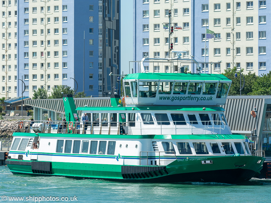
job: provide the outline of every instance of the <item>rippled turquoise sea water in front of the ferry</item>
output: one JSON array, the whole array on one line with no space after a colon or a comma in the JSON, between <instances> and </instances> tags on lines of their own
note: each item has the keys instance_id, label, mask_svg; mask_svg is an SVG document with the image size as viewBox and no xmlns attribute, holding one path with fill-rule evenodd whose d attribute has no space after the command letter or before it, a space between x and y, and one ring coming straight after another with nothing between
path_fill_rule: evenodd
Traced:
<instances>
[{"instance_id":1,"label":"rippled turquoise sea water in front of the ferry","mask_svg":"<svg viewBox=\"0 0 271 203\"><path fill-rule=\"evenodd\" d=\"M23 198L21 200L12 198ZM10 201L11 200L11 201ZM222 183L120 183L56 176L12 174L0 166L0 201L5 202L271 202L271 179Z\"/></svg>"}]
</instances>

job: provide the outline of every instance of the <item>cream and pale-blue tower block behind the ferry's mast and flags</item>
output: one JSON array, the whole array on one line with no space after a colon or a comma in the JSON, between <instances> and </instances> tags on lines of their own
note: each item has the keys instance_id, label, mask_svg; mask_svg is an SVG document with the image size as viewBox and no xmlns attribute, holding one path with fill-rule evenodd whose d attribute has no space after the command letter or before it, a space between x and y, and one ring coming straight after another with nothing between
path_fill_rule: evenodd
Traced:
<instances>
[{"instance_id":1,"label":"cream and pale-blue tower block behind the ferry's mast and flags","mask_svg":"<svg viewBox=\"0 0 271 203\"><path fill-rule=\"evenodd\" d=\"M135 61L141 60L146 53L150 58L168 57L169 30L163 27L168 26L167 14L171 9L170 26L174 30L169 43L173 43L173 51L185 51L182 57L194 57L203 72L221 73L234 66L238 70L244 69L245 73L251 71L257 75L270 70L268 66L266 69L266 64L269 64L266 32L268 34L270 29L266 23L271 17L268 1L142 0L134 1L134 9ZM182 29L175 29L176 26L182 26ZM213 31L215 37L205 42L206 28ZM157 44L159 41L160 44ZM185 66L189 71L196 72L194 64L171 66L160 70L148 68L150 72L177 72L178 67ZM139 70L135 67L135 71Z\"/></svg>"}]
</instances>

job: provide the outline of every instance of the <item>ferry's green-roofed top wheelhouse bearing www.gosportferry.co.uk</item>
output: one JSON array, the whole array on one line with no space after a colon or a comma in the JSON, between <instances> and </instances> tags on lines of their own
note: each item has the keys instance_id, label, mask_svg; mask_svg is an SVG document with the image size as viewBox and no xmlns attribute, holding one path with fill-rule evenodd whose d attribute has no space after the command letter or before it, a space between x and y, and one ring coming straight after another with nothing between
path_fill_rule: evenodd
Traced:
<instances>
[{"instance_id":1,"label":"ferry's green-roofed top wheelhouse bearing www.gosportferry.co.uk","mask_svg":"<svg viewBox=\"0 0 271 203\"><path fill-rule=\"evenodd\" d=\"M223 105L232 81L220 74L134 73L123 78L125 103L135 105Z\"/></svg>"}]
</instances>

